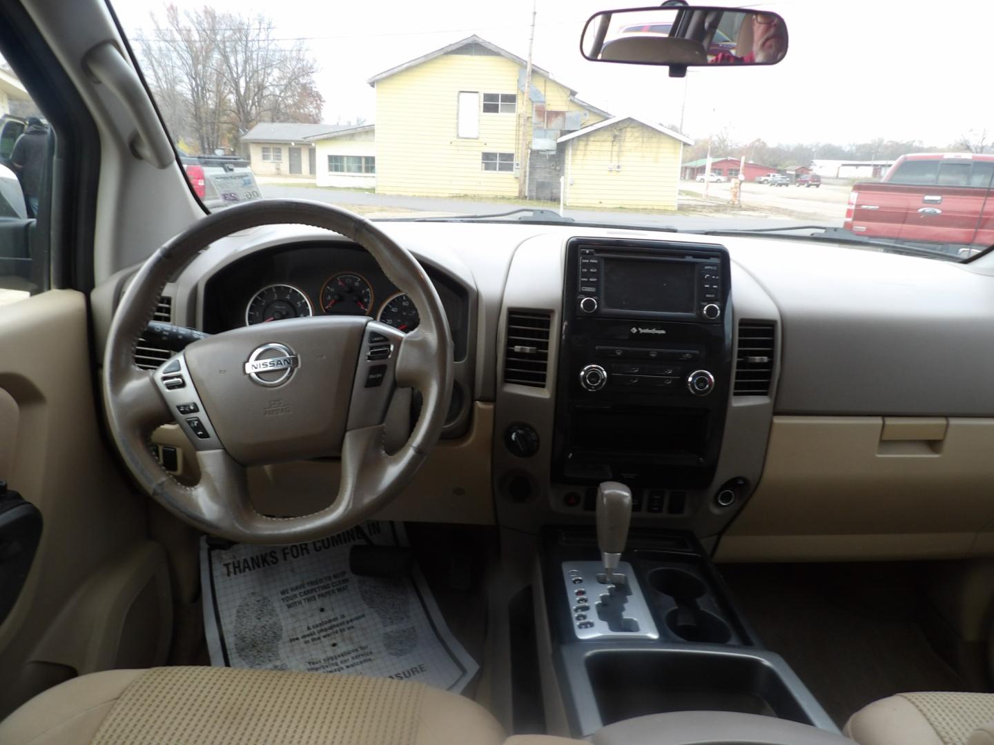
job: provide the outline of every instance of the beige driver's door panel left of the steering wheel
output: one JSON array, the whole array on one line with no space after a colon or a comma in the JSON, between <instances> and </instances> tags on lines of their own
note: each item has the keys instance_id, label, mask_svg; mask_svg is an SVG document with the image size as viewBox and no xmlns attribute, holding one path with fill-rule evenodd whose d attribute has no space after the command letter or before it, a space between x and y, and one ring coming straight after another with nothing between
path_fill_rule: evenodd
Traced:
<instances>
[{"instance_id":1,"label":"beige driver's door panel left of the steering wheel","mask_svg":"<svg viewBox=\"0 0 994 745\"><path fill-rule=\"evenodd\" d=\"M146 498L121 476L97 416L83 294L0 306L0 479L44 519L0 625L0 718L74 674L165 660L164 552L146 537Z\"/></svg>"}]
</instances>

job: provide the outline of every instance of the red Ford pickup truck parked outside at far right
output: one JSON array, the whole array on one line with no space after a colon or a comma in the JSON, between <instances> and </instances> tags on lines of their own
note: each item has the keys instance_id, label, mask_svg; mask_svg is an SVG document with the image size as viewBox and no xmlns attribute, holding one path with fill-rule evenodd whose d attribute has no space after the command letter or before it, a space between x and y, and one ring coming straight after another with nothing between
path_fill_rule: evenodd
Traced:
<instances>
[{"instance_id":1,"label":"red Ford pickup truck parked outside at far right","mask_svg":"<svg viewBox=\"0 0 994 745\"><path fill-rule=\"evenodd\" d=\"M843 227L950 249L994 244L994 155L902 155L880 183L853 186Z\"/></svg>"}]
</instances>

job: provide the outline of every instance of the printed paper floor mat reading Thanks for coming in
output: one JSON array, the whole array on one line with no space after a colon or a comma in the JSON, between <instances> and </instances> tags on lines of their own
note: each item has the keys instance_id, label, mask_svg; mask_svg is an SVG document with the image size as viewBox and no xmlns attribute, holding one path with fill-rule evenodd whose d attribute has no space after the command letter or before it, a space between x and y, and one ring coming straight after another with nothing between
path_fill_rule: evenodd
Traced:
<instances>
[{"instance_id":1,"label":"printed paper floor mat reading Thanks for coming in","mask_svg":"<svg viewBox=\"0 0 994 745\"><path fill-rule=\"evenodd\" d=\"M355 544L404 545L403 525L366 522L321 540L227 549L201 541L211 664L414 679L461 691L477 664L451 635L418 569L349 571Z\"/></svg>"}]
</instances>

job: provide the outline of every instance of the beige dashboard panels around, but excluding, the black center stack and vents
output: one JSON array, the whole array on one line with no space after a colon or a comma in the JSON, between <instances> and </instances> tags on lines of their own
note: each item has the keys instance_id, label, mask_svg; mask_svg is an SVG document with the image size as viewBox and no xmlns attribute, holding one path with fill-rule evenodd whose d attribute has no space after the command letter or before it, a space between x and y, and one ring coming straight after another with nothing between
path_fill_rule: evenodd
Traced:
<instances>
[{"instance_id":1,"label":"beige dashboard panels around, but excluding, the black center stack and vents","mask_svg":"<svg viewBox=\"0 0 994 745\"><path fill-rule=\"evenodd\" d=\"M461 424L383 517L528 532L591 522L568 504L571 486L555 483L550 469L556 375L541 387L504 380L508 314L549 314L555 371L569 238L675 236L536 224L386 227L465 288L472 313L457 376L467 393ZM272 226L219 241L167 286L172 322L201 328L206 281L220 267L315 240L336 236ZM994 369L994 278L811 241L685 233L679 240L720 240L728 248L732 357L741 323L770 324L772 384L768 395L729 396L712 484L692 490L681 515L643 513L636 524L691 529L725 561L994 553L994 376L981 373ZM127 275L94 291L98 344ZM406 403L394 412L395 436L409 424ZM519 421L539 435L533 457L519 458L504 444L507 427ZM196 479L178 433L166 428L155 439L178 449L177 478ZM715 490L736 477L747 491L719 504ZM336 479L334 462L275 464L253 472L253 499L269 514L302 514L335 494Z\"/></svg>"}]
</instances>

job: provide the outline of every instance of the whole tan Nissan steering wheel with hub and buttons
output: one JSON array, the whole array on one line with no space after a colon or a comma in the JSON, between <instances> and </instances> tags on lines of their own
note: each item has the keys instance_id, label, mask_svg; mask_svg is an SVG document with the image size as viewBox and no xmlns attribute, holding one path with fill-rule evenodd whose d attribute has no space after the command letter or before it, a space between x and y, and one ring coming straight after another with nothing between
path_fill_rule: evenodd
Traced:
<instances>
[{"instance_id":1,"label":"whole tan Nissan steering wheel with hub and buttons","mask_svg":"<svg viewBox=\"0 0 994 745\"><path fill-rule=\"evenodd\" d=\"M138 337L166 282L198 251L233 232L303 224L362 245L406 292L420 324L410 334L366 316L318 316L235 329L195 342L154 371L134 365ZM421 393L411 437L384 449L396 386ZM266 200L214 213L145 261L110 324L103 400L114 443L142 488L173 515L213 535L252 543L324 537L366 519L411 481L438 439L452 391L452 343L434 286L414 256L376 225L328 205ZM201 479L184 486L149 448L176 421L196 448ZM294 518L260 515L246 469L340 457L338 495Z\"/></svg>"}]
</instances>

